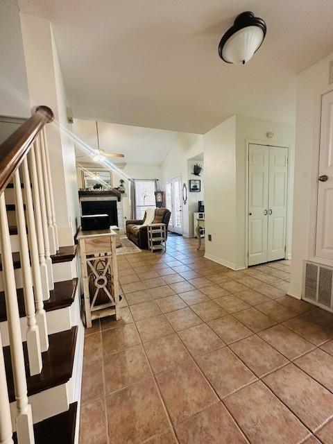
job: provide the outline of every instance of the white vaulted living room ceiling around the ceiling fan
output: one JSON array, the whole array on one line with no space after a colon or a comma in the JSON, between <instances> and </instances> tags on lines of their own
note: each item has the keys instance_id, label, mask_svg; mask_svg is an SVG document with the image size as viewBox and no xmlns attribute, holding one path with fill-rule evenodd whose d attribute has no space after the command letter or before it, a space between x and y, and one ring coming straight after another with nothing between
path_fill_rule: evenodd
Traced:
<instances>
[{"instance_id":1,"label":"white vaulted living room ceiling around the ceiling fan","mask_svg":"<svg viewBox=\"0 0 333 444\"><path fill-rule=\"evenodd\" d=\"M74 119L73 133L90 148L97 148L96 122ZM99 122L99 146L107 153L121 153L125 157L109 157L114 164L162 164L169 149L176 144L178 133L139 126ZM76 144L79 163L92 162L86 152Z\"/></svg>"}]
</instances>

